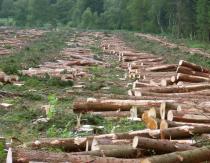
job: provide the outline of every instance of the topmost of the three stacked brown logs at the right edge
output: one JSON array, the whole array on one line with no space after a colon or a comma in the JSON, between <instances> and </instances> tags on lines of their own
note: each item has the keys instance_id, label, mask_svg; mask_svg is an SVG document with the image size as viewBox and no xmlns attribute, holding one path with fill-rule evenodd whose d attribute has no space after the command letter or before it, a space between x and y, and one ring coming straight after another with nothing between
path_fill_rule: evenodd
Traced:
<instances>
[{"instance_id":1,"label":"topmost of the three stacked brown logs at the right edge","mask_svg":"<svg viewBox=\"0 0 210 163\"><path fill-rule=\"evenodd\" d=\"M194 63L190 63L190 62L187 62L184 60L179 61L179 66L185 66L185 67L188 67L188 68L193 69L194 71L198 71L198 72L210 73L209 69L203 68L199 65L196 65Z\"/></svg>"}]
</instances>

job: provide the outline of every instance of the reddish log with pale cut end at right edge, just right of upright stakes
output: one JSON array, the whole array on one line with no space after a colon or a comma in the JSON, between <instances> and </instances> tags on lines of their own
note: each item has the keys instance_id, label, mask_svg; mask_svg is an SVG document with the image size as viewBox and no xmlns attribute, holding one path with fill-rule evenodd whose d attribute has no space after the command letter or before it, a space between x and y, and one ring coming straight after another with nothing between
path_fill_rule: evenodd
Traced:
<instances>
[{"instance_id":1,"label":"reddish log with pale cut end at right edge, just right of upright stakes","mask_svg":"<svg viewBox=\"0 0 210 163\"><path fill-rule=\"evenodd\" d=\"M189 123L210 123L210 115L206 113L186 113L183 111L171 110L168 112L167 120L177 122L189 122Z\"/></svg>"}]
</instances>

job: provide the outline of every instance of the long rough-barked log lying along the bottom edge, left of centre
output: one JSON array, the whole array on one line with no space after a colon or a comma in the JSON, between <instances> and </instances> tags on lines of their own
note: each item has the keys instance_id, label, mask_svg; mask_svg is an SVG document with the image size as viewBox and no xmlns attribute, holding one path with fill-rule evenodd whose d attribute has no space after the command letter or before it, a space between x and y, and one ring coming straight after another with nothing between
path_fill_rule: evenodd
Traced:
<instances>
[{"instance_id":1,"label":"long rough-barked log lying along the bottom edge, left of centre","mask_svg":"<svg viewBox=\"0 0 210 163\"><path fill-rule=\"evenodd\" d=\"M87 155L72 155L69 153L53 153L35 150L13 149L14 163L28 163L29 161L39 162L94 162L94 163L138 163L139 159L117 159L112 157L96 157Z\"/></svg>"}]
</instances>

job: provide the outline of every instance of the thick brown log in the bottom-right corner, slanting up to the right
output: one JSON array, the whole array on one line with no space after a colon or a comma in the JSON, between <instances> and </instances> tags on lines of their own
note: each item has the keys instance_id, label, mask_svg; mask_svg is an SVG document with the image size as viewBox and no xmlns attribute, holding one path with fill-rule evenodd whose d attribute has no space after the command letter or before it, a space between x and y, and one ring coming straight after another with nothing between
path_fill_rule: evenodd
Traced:
<instances>
[{"instance_id":1,"label":"thick brown log in the bottom-right corner, slanting up to the right","mask_svg":"<svg viewBox=\"0 0 210 163\"><path fill-rule=\"evenodd\" d=\"M143 159L141 163L198 163L210 161L210 146Z\"/></svg>"}]
</instances>

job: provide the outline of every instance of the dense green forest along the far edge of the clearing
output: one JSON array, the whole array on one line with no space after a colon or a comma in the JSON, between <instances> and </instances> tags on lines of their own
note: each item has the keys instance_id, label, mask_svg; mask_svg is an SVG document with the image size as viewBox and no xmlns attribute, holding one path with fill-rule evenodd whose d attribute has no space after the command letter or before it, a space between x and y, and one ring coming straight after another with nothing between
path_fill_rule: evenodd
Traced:
<instances>
[{"instance_id":1,"label":"dense green forest along the far edge of the clearing","mask_svg":"<svg viewBox=\"0 0 210 163\"><path fill-rule=\"evenodd\" d=\"M0 17L18 26L167 32L210 40L210 0L0 0Z\"/></svg>"}]
</instances>

